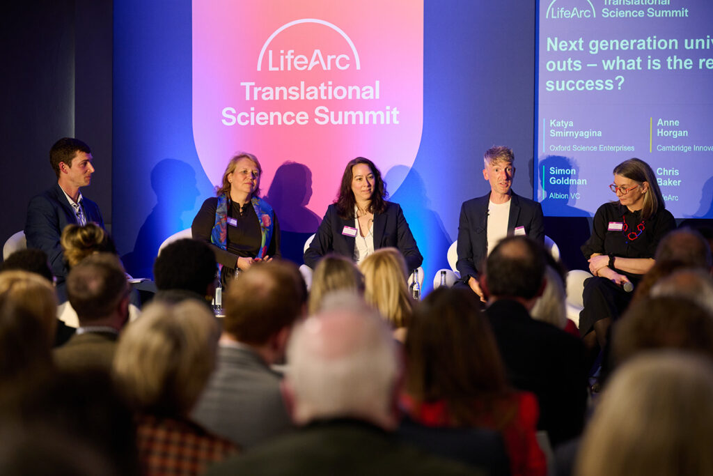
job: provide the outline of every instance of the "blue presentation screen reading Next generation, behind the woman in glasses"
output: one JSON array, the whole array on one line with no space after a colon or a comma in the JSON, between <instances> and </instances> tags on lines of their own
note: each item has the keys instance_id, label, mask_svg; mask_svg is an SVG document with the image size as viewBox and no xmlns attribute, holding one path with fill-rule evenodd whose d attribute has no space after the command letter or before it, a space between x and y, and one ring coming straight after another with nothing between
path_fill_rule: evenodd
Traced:
<instances>
[{"instance_id":1,"label":"blue presentation screen reading Next generation, behind the woman in glasses","mask_svg":"<svg viewBox=\"0 0 713 476\"><path fill-rule=\"evenodd\" d=\"M534 190L593 216L646 161L677 218L713 218L713 1L538 2Z\"/></svg>"}]
</instances>

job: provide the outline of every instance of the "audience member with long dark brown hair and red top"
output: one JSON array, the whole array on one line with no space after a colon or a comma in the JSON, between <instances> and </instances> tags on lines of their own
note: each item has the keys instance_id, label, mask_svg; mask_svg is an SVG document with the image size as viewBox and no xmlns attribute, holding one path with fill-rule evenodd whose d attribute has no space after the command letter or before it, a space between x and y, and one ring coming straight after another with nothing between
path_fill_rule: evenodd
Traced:
<instances>
[{"instance_id":1,"label":"audience member with long dark brown hair and red top","mask_svg":"<svg viewBox=\"0 0 713 476\"><path fill-rule=\"evenodd\" d=\"M428 426L498 430L513 476L545 475L545 455L535 439L537 399L509 387L474 293L438 288L426 296L406 337L406 362L402 403L411 419Z\"/></svg>"}]
</instances>

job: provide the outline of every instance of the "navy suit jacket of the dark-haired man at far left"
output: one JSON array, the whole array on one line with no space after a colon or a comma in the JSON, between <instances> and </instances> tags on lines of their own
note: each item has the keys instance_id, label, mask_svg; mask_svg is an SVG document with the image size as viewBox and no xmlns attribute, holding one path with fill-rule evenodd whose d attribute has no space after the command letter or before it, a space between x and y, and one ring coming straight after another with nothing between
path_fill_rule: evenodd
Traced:
<instances>
[{"instance_id":1,"label":"navy suit jacket of the dark-haired man at far left","mask_svg":"<svg viewBox=\"0 0 713 476\"><path fill-rule=\"evenodd\" d=\"M83 196L81 207L87 222L93 221L104 228L101 211L96 203ZM64 227L70 224L78 224L77 217L58 183L48 191L34 196L27 206L25 221L27 247L39 248L47 253L58 285L64 283L67 275L67 265L64 263L59 238Z\"/></svg>"}]
</instances>

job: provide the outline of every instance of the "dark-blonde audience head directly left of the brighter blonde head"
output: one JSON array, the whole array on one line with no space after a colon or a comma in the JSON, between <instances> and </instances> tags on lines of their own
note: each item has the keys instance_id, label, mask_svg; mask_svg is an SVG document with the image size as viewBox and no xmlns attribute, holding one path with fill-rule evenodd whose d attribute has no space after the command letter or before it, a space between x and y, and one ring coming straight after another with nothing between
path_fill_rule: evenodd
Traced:
<instances>
[{"instance_id":1,"label":"dark-blonde audience head directly left of the brighter blonde head","mask_svg":"<svg viewBox=\"0 0 713 476\"><path fill-rule=\"evenodd\" d=\"M324 296L337 290L353 290L354 293L363 294L364 275L354 261L330 253L319 260L314 268L312 288L309 290L309 314L317 313Z\"/></svg>"}]
</instances>

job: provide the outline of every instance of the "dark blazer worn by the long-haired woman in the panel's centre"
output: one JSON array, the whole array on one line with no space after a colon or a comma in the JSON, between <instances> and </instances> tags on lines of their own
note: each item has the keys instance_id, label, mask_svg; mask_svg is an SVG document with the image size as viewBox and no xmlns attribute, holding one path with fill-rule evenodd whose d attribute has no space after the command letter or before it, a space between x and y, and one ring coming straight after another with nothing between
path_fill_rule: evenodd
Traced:
<instances>
[{"instance_id":1,"label":"dark blazer worn by the long-haired woman in the panel's centre","mask_svg":"<svg viewBox=\"0 0 713 476\"><path fill-rule=\"evenodd\" d=\"M319 258L327 253L337 253L354 259L356 238L342 235L345 226L354 228L354 218L347 220L340 218L337 206L330 205L322 218L322 223L319 224L317 235L304 252L304 264L314 269ZM424 262L401 206L393 202L386 202L384 213L374 214L374 249L389 246L401 251L409 271L418 268Z\"/></svg>"}]
</instances>

